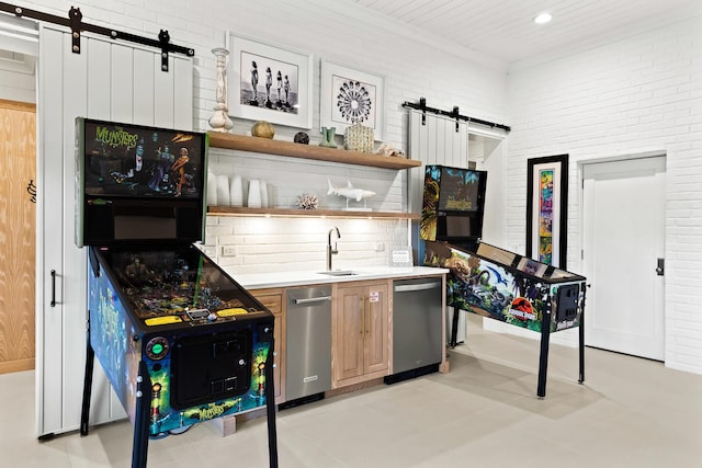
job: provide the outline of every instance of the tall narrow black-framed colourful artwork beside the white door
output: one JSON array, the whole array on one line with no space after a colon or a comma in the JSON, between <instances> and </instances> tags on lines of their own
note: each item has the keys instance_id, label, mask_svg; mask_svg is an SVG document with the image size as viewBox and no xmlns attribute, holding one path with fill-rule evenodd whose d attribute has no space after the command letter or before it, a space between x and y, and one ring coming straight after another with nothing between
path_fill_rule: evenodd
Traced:
<instances>
[{"instance_id":1,"label":"tall narrow black-framed colourful artwork beside the white door","mask_svg":"<svg viewBox=\"0 0 702 468\"><path fill-rule=\"evenodd\" d=\"M568 155L528 160L526 256L566 270Z\"/></svg>"}]
</instances>

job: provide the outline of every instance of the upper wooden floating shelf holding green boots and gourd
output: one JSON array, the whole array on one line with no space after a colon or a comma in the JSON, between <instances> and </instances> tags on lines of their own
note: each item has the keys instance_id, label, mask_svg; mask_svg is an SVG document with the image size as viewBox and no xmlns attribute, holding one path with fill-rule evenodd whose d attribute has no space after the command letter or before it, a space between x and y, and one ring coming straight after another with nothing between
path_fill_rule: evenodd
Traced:
<instances>
[{"instance_id":1,"label":"upper wooden floating shelf holding green boots and gourd","mask_svg":"<svg viewBox=\"0 0 702 468\"><path fill-rule=\"evenodd\" d=\"M239 151L261 152L265 155L287 156L291 158L313 159L317 161L341 162L344 164L369 165L384 169L411 169L421 167L414 159L371 155L317 145L302 145L269 138L211 132L210 146L213 148L235 149Z\"/></svg>"}]
</instances>

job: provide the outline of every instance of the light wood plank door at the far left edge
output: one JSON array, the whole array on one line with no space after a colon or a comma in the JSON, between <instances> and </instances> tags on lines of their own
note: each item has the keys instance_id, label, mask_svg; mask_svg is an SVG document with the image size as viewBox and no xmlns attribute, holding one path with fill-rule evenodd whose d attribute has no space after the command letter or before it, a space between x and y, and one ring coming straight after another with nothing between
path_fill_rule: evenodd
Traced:
<instances>
[{"instance_id":1,"label":"light wood plank door at the far left edge","mask_svg":"<svg viewBox=\"0 0 702 468\"><path fill-rule=\"evenodd\" d=\"M0 374L34 368L36 110L0 100Z\"/></svg>"}]
</instances>

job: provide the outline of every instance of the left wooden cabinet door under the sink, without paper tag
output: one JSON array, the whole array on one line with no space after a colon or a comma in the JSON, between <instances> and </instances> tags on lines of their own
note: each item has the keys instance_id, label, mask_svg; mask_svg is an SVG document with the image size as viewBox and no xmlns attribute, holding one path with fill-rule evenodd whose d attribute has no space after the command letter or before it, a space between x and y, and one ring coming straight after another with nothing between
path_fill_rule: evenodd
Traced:
<instances>
[{"instance_id":1,"label":"left wooden cabinet door under the sink, without paper tag","mask_svg":"<svg viewBox=\"0 0 702 468\"><path fill-rule=\"evenodd\" d=\"M364 374L365 288L343 287L338 289L337 321L335 330L336 380L359 377Z\"/></svg>"}]
</instances>

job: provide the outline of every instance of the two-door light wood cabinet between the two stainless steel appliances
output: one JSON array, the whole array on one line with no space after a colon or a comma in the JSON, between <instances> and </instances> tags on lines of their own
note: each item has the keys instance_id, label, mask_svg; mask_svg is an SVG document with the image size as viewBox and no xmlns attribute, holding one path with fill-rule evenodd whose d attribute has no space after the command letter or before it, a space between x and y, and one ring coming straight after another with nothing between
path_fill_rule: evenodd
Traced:
<instances>
[{"instance_id":1,"label":"two-door light wood cabinet between the two stainless steel appliances","mask_svg":"<svg viewBox=\"0 0 702 468\"><path fill-rule=\"evenodd\" d=\"M339 284L331 316L332 388L359 384L389 372L389 282Z\"/></svg>"}]
</instances>

